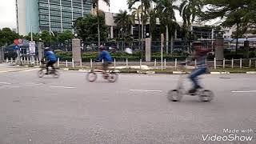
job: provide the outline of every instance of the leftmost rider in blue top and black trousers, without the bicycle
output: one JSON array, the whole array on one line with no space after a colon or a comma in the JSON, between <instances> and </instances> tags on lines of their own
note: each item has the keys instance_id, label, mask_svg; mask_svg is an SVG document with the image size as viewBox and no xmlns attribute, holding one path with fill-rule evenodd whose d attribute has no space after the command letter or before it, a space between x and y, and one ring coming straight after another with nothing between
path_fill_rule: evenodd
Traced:
<instances>
[{"instance_id":1,"label":"leftmost rider in blue top and black trousers, without the bicycle","mask_svg":"<svg viewBox=\"0 0 256 144\"><path fill-rule=\"evenodd\" d=\"M45 57L48 61L47 64L46 64L46 71L47 71L46 74L49 74L48 73L49 67L52 67L53 73L54 73L54 70L55 70L54 63L57 62L57 58L56 58L54 52L51 51L49 47L45 48Z\"/></svg>"}]
</instances>

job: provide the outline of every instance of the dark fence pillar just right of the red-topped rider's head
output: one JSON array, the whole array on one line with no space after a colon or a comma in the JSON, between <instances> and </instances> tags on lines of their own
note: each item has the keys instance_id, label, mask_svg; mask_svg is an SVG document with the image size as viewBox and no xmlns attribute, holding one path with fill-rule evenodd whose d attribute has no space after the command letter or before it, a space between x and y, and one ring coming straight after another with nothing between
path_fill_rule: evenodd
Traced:
<instances>
[{"instance_id":1,"label":"dark fence pillar just right of the red-topped rider's head","mask_svg":"<svg viewBox=\"0 0 256 144\"><path fill-rule=\"evenodd\" d=\"M218 37L215 42L215 58L223 60L224 58L224 38Z\"/></svg>"}]
</instances>

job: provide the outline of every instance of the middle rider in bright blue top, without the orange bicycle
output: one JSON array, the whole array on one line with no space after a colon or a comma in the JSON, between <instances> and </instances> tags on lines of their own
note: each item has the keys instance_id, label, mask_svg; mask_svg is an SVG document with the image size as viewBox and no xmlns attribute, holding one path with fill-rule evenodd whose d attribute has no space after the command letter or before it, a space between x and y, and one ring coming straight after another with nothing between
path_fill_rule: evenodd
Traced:
<instances>
[{"instance_id":1,"label":"middle rider in bright blue top, without the orange bicycle","mask_svg":"<svg viewBox=\"0 0 256 144\"><path fill-rule=\"evenodd\" d=\"M112 59L110 53L108 51L106 51L103 46L100 46L98 48L98 50L99 50L99 55L98 55L97 60L100 62L103 60L102 68L104 71L103 72L104 76L106 76L106 70L108 70L108 66L113 62L113 59Z\"/></svg>"}]
</instances>

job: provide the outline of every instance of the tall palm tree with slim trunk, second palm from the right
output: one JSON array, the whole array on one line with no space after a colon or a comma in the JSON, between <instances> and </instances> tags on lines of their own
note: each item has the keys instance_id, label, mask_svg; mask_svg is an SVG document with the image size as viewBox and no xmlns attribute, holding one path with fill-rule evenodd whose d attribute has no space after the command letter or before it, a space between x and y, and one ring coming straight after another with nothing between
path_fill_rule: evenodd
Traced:
<instances>
[{"instance_id":1,"label":"tall palm tree with slim trunk, second palm from the right","mask_svg":"<svg viewBox=\"0 0 256 144\"><path fill-rule=\"evenodd\" d=\"M164 31L162 26L166 27L166 53L168 53L169 33L172 34L170 38L170 41L172 41L172 36L178 28L178 23L176 22L174 13L174 10L178 10L178 6L174 6L174 2L176 2L176 0L159 0L156 6L161 31Z\"/></svg>"}]
</instances>

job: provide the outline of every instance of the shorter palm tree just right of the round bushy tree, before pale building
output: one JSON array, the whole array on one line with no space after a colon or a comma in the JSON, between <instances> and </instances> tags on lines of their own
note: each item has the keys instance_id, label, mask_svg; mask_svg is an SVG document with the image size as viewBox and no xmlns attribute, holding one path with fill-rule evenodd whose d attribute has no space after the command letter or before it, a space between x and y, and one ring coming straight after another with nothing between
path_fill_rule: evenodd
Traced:
<instances>
[{"instance_id":1,"label":"shorter palm tree just right of the round bushy tree, before pale building","mask_svg":"<svg viewBox=\"0 0 256 144\"><path fill-rule=\"evenodd\" d=\"M130 26L134 24L132 16L128 14L126 10L120 10L114 22L117 23L119 28L121 28L122 38L124 33L127 37L127 31L130 29Z\"/></svg>"}]
</instances>

